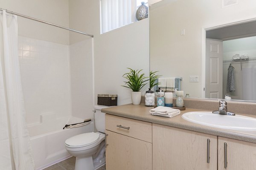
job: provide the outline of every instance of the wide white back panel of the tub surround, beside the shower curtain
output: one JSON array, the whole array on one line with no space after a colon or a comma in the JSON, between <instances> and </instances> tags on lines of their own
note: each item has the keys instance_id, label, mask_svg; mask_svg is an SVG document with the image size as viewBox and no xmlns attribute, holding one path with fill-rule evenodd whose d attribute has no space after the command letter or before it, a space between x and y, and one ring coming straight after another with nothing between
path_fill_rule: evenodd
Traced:
<instances>
[{"instance_id":1,"label":"wide white back panel of the tub surround, beside the shower curtain","mask_svg":"<svg viewBox=\"0 0 256 170\"><path fill-rule=\"evenodd\" d=\"M40 115L71 116L69 45L18 37L20 74L26 122L40 122Z\"/></svg>"}]
</instances>

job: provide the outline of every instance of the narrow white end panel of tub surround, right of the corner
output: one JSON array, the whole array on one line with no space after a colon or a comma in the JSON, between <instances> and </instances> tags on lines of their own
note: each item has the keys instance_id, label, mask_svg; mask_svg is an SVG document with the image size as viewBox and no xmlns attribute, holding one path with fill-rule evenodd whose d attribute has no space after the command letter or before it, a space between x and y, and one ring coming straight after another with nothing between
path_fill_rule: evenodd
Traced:
<instances>
[{"instance_id":1,"label":"narrow white end panel of tub surround, right of the corner","mask_svg":"<svg viewBox=\"0 0 256 170\"><path fill-rule=\"evenodd\" d=\"M93 119L92 39L70 45L72 116Z\"/></svg>"}]
</instances>

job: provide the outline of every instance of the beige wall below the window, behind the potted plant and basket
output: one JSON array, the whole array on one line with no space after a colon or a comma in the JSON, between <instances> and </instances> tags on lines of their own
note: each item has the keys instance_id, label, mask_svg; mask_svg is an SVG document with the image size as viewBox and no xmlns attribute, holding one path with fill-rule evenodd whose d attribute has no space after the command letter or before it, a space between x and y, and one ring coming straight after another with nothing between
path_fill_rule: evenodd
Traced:
<instances>
[{"instance_id":1,"label":"beige wall below the window, behind the potted plant and basket","mask_svg":"<svg viewBox=\"0 0 256 170\"><path fill-rule=\"evenodd\" d=\"M125 81L122 75L133 68L143 69L148 76L148 24L148 19L140 20L95 38L96 95L118 94L118 105L131 103L131 90L121 86Z\"/></svg>"}]
</instances>

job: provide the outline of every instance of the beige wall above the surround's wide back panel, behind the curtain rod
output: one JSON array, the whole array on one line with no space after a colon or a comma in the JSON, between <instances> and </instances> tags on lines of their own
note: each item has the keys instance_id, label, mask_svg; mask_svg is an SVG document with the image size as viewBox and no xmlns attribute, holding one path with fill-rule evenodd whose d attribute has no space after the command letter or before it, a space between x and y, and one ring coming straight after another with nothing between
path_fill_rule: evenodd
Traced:
<instances>
[{"instance_id":1,"label":"beige wall above the surround's wide back panel, behind the curtain rod","mask_svg":"<svg viewBox=\"0 0 256 170\"><path fill-rule=\"evenodd\" d=\"M0 8L69 27L68 0L0 0ZM18 17L18 26L20 36L69 44L67 30L22 17Z\"/></svg>"}]
</instances>

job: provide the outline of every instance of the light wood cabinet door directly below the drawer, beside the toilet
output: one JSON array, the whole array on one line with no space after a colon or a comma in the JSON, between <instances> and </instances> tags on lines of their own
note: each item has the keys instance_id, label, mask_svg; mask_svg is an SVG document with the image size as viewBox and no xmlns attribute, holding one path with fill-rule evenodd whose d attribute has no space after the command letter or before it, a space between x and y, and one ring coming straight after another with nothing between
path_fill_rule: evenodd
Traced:
<instances>
[{"instance_id":1,"label":"light wood cabinet door directly below the drawer, beside the toilet","mask_svg":"<svg viewBox=\"0 0 256 170\"><path fill-rule=\"evenodd\" d=\"M152 170L152 144L105 131L106 170Z\"/></svg>"}]
</instances>

